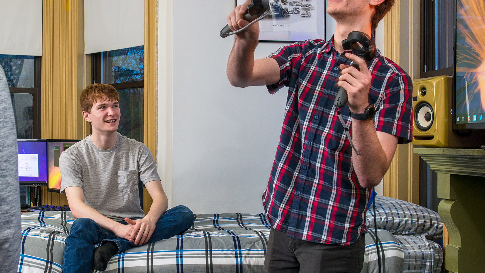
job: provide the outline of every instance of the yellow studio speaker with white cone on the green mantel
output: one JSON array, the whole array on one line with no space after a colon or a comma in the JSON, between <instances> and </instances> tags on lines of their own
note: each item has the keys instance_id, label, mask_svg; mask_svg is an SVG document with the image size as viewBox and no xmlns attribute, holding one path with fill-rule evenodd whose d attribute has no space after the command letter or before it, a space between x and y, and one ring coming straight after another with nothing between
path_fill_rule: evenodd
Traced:
<instances>
[{"instance_id":1,"label":"yellow studio speaker with white cone on the green mantel","mask_svg":"<svg viewBox=\"0 0 485 273\"><path fill-rule=\"evenodd\" d=\"M452 109L453 78L451 76L415 80L413 145L429 148L479 148L476 133L457 136L453 132Z\"/></svg>"}]
</instances>

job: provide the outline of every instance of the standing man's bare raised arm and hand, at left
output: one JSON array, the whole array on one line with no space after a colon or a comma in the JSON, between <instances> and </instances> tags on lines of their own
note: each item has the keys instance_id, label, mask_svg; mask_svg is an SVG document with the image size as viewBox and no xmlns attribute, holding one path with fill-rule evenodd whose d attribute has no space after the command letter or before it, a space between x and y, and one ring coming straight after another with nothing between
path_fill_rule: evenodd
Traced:
<instances>
[{"instance_id":1,"label":"standing man's bare raised arm and hand, at left","mask_svg":"<svg viewBox=\"0 0 485 273\"><path fill-rule=\"evenodd\" d=\"M242 19L242 14L250 3L250 0L246 0L227 17L227 25L232 31L249 23ZM231 85L246 87L277 83L280 75L278 63L272 58L254 59L254 51L259 41L259 25L253 24L235 35L236 40L227 61L227 78Z\"/></svg>"}]
</instances>

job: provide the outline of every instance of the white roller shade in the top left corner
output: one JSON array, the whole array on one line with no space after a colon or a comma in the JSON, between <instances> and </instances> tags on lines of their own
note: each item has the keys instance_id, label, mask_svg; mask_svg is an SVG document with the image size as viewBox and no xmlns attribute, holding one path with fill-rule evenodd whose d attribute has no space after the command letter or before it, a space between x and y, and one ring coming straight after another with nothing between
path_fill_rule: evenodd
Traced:
<instances>
[{"instance_id":1,"label":"white roller shade in the top left corner","mask_svg":"<svg viewBox=\"0 0 485 273\"><path fill-rule=\"evenodd\" d=\"M42 0L0 0L0 54L42 56Z\"/></svg>"}]
</instances>

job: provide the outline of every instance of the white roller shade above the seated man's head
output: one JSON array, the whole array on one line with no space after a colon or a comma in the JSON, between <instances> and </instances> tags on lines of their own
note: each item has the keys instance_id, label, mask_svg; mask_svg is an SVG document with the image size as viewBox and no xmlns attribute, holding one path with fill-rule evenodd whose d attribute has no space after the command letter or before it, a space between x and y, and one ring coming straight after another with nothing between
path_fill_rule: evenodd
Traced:
<instances>
[{"instance_id":1,"label":"white roller shade above the seated man's head","mask_svg":"<svg viewBox=\"0 0 485 273\"><path fill-rule=\"evenodd\" d=\"M144 45L144 0L84 0L84 54Z\"/></svg>"}]
</instances>

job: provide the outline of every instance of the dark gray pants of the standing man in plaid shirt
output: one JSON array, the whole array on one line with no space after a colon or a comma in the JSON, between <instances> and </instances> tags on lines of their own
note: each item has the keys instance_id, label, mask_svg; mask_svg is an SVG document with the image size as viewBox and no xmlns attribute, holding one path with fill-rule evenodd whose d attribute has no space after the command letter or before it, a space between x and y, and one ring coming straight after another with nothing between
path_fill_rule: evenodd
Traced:
<instances>
[{"instance_id":1,"label":"dark gray pants of the standing man in plaid shirt","mask_svg":"<svg viewBox=\"0 0 485 273\"><path fill-rule=\"evenodd\" d=\"M264 259L267 273L360 273L365 238L347 246L304 241L271 228Z\"/></svg>"}]
</instances>

